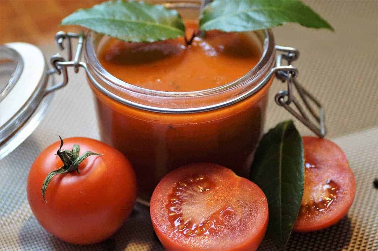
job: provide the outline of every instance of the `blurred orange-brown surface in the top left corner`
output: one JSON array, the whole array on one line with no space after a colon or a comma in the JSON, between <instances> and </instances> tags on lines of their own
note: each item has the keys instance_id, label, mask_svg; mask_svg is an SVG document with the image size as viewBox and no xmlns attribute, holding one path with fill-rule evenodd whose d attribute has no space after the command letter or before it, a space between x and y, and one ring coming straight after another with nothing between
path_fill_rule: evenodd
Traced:
<instances>
[{"instance_id":1,"label":"blurred orange-brown surface in the top left corner","mask_svg":"<svg viewBox=\"0 0 378 251\"><path fill-rule=\"evenodd\" d=\"M78 28L57 27L59 21L79 8L102 0L0 0L0 43L23 41L53 43L57 31Z\"/></svg>"}]
</instances>

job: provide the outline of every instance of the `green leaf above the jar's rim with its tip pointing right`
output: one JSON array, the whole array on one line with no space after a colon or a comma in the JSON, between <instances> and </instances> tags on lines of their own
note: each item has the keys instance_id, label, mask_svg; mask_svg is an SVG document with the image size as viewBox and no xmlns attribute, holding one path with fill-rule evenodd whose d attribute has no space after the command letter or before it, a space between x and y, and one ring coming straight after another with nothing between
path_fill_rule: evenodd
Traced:
<instances>
[{"instance_id":1,"label":"green leaf above the jar's rim with its tip pointing right","mask_svg":"<svg viewBox=\"0 0 378 251\"><path fill-rule=\"evenodd\" d=\"M243 32L287 22L333 31L327 21L300 0L215 0L204 8L200 29Z\"/></svg>"}]
</instances>

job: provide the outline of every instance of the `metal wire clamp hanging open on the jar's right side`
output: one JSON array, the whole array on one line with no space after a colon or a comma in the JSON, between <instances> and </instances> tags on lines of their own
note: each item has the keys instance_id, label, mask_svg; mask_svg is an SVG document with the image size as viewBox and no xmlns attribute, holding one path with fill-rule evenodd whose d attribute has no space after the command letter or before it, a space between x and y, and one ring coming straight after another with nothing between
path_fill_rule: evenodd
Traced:
<instances>
[{"instance_id":1,"label":"metal wire clamp hanging open on the jar's right side","mask_svg":"<svg viewBox=\"0 0 378 251\"><path fill-rule=\"evenodd\" d=\"M292 69L285 69L285 70L277 70L276 77L281 80L282 82L287 83L287 90L279 91L274 99L279 106L282 106L288 112L290 112L294 117L299 119L305 126L307 126L311 131L316 133L321 138L325 136L325 122L324 122L324 109L320 102L311 95L307 90L305 90L301 84L298 83L296 77L298 76L298 69L291 65L292 61L295 61L299 57L299 51L295 48L291 47L284 47L276 45L276 50L283 52L277 55L276 58L276 68L282 67L282 61L286 60L288 65L292 67ZM308 112L312 116L312 120L305 112L302 105L298 102L293 94L293 86L299 93L299 96L302 102L305 104ZM319 109L319 113L316 114L314 112L313 107L311 107L310 102L312 101L313 104ZM294 103L294 106L297 110L290 106L291 103ZM317 123L314 123L316 121Z\"/></svg>"}]
</instances>

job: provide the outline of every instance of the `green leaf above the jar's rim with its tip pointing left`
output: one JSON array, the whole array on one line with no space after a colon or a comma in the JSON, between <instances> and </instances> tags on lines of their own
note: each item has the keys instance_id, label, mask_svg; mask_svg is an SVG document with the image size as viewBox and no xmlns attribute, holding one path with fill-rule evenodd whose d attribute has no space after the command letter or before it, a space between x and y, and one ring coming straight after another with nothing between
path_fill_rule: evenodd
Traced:
<instances>
[{"instance_id":1,"label":"green leaf above the jar's rim with its tip pointing left","mask_svg":"<svg viewBox=\"0 0 378 251\"><path fill-rule=\"evenodd\" d=\"M153 42L185 34L184 22L177 11L163 5L124 0L78 9L60 22L60 25L72 24L130 42Z\"/></svg>"}]
</instances>

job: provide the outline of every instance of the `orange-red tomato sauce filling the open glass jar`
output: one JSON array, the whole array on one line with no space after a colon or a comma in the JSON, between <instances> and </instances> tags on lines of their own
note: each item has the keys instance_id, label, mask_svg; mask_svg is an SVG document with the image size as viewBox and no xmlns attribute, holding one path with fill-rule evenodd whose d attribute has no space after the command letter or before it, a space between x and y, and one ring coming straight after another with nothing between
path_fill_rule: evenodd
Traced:
<instances>
[{"instance_id":1,"label":"orange-red tomato sauce filling the open glass jar","mask_svg":"<svg viewBox=\"0 0 378 251\"><path fill-rule=\"evenodd\" d=\"M189 33L196 27L194 22L186 24ZM155 43L110 39L99 49L98 59L105 70L125 82L184 92L236 80L257 64L261 54L260 45L244 33L211 31L205 38L195 38L189 47L183 38ZM136 109L104 95L93 84L91 88L96 96L102 140L129 158L135 167L139 197L149 200L165 174L190 163L215 162L248 177L263 132L271 81L231 106L186 114ZM122 88L112 92L128 95ZM225 90L222 95L231 94ZM216 103L218 98L214 95L211 102ZM186 104L186 98L181 99L180 104ZM207 104L203 98L192 102L200 107Z\"/></svg>"}]
</instances>

